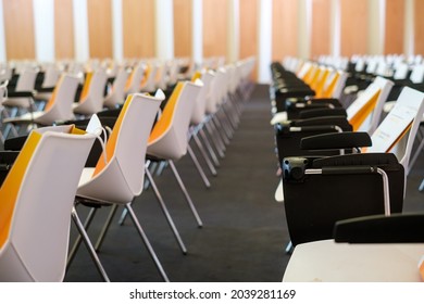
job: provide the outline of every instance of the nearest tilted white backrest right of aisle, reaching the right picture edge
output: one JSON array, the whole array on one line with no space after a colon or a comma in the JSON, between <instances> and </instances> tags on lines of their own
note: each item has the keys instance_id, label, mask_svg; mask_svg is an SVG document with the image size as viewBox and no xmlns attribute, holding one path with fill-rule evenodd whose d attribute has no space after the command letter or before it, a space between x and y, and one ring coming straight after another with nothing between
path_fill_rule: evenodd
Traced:
<instances>
[{"instance_id":1,"label":"nearest tilted white backrest right of aisle, reaching the right picture edge","mask_svg":"<svg viewBox=\"0 0 424 304\"><path fill-rule=\"evenodd\" d=\"M412 145L424 113L424 93L404 87L371 139L366 152L392 152L408 173ZM406 136L409 131L408 137Z\"/></svg>"}]
</instances>

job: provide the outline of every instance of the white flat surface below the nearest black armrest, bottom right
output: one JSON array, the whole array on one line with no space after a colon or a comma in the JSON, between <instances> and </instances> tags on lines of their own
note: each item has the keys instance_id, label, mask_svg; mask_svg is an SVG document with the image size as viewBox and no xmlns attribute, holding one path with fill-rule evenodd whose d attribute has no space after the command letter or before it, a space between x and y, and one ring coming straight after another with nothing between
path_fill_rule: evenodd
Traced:
<instances>
[{"instance_id":1,"label":"white flat surface below the nearest black armrest, bottom right","mask_svg":"<svg viewBox=\"0 0 424 304\"><path fill-rule=\"evenodd\" d=\"M420 282L424 244L347 244L324 240L295 248L284 282Z\"/></svg>"}]
</instances>

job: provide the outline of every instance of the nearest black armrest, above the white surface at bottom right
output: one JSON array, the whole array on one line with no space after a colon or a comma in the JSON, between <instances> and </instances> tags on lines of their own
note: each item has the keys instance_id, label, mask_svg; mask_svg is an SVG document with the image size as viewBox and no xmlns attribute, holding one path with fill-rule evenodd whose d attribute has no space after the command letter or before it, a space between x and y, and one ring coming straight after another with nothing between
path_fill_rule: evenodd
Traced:
<instances>
[{"instance_id":1,"label":"nearest black armrest, above the white surface at bottom right","mask_svg":"<svg viewBox=\"0 0 424 304\"><path fill-rule=\"evenodd\" d=\"M424 243L424 214L373 215L336 221L334 239L348 243Z\"/></svg>"}]
</instances>

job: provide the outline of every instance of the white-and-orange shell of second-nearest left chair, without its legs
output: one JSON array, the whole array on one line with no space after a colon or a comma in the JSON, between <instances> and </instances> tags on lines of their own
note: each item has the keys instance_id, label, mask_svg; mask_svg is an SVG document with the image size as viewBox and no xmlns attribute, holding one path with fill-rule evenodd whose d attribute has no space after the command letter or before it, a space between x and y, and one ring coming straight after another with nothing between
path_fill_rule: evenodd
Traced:
<instances>
[{"instance_id":1,"label":"white-and-orange shell of second-nearest left chair, without its legs","mask_svg":"<svg viewBox=\"0 0 424 304\"><path fill-rule=\"evenodd\" d=\"M127 97L105 145L107 162L103 152L78 195L123 204L141 193L147 142L163 99L161 91Z\"/></svg>"}]
</instances>

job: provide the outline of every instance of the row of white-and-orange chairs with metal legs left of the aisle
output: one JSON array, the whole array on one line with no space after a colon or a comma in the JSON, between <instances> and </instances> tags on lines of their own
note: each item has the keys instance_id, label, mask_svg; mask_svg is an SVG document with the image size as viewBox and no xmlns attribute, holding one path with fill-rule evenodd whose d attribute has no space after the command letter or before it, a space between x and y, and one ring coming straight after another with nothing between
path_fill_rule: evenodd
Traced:
<instances>
[{"instance_id":1,"label":"row of white-and-orange chairs with metal legs left of the aisle","mask_svg":"<svg viewBox=\"0 0 424 304\"><path fill-rule=\"evenodd\" d=\"M102 109L92 115L84 115L84 119L54 121L54 126L38 126L28 135L20 134L18 137L5 139L4 155L12 153L17 159L14 162L11 157L2 159L7 175L0 191L9 193L4 198L10 199L0 204L1 280L63 280L66 264L71 266L79 243L84 241L101 278L109 281L98 255L100 245L92 244L87 231L96 210L111 206L110 216L99 236L101 243L117 207L123 206L125 213L122 217L130 217L162 279L169 281L167 273L132 207L133 201L146 187L146 175L176 241L183 253L187 252L152 178L160 166L153 168L152 164L171 167L201 227L201 218L174 162L189 151L189 140L198 134L204 135L201 136L203 141L198 138L197 142L208 145L203 156L210 160L211 165L214 160L212 155L216 161L224 156L225 145L241 114L241 102L251 91L250 74L253 66L254 59L250 58L216 71L201 71L192 79L177 81L169 98L161 89L154 96L129 93L122 106L113 111ZM95 75L86 79L90 77L91 80L86 81L95 81ZM57 102L62 98L70 99L60 90L66 80L73 88L76 86L75 77L62 76L52 93ZM83 88L82 97L87 93ZM45 151L42 143L50 141L52 143ZM36 155L38 159L33 159ZM79 208L87 206L90 213L83 223ZM33 210L36 212L33 213ZM80 239L75 241L68 253L71 218Z\"/></svg>"}]
</instances>

